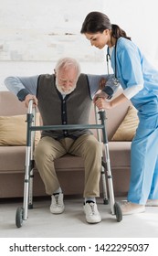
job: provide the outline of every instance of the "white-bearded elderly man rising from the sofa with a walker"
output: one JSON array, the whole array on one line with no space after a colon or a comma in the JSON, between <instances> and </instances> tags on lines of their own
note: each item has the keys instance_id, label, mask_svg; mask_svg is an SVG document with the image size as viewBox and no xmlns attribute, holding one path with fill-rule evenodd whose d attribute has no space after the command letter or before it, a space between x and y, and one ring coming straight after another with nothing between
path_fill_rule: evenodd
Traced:
<instances>
[{"instance_id":1,"label":"white-bearded elderly man rising from the sofa with a walker","mask_svg":"<svg viewBox=\"0 0 158 256\"><path fill-rule=\"evenodd\" d=\"M8 77L5 85L19 101L34 99L44 125L89 123L93 96L103 76L80 74L76 59L59 59L54 74L34 77ZM104 76L107 80L108 76ZM111 91L107 86L107 93ZM62 188L54 160L67 153L83 157L85 163L84 212L89 223L101 221L96 204L100 197L101 145L88 129L43 131L35 149L39 174L51 196L50 212L64 211ZM70 184L69 184L70 186Z\"/></svg>"}]
</instances>

